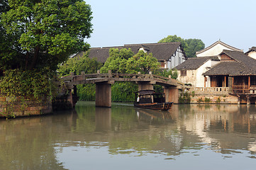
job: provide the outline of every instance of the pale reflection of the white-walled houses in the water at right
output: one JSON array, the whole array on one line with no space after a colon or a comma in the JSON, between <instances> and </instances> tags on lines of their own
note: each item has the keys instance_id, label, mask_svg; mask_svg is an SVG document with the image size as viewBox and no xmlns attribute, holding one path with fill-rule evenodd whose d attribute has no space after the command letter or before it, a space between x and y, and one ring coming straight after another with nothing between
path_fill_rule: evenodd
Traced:
<instances>
[{"instance_id":1,"label":"pale reflection of the white-walled houses in the water at right","mask_svg":"<svg viewBox=\"0 0 256 170\"><path fill-rule=\"evenodd\" d=\"M255 106L191 106L193 115L184 119L186 130L198 135L204 142L224 153L228 149L256 151ZM244 135L247 134L247 135ZM226 149L226 151L225 151Z\"/></svg>"}]
</instances>

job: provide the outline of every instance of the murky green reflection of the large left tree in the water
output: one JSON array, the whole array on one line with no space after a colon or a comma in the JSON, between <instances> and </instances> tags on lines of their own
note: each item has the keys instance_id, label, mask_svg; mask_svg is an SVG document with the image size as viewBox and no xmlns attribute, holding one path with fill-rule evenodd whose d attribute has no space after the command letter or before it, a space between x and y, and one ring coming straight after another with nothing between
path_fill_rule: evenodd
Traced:
<instances>
[{"instance_id":1,"label":"murky green reflection of the large left tree in the water","mask_svg":"<svg viewBox=\"0 0 256 170\"><path fill-rule=\"evenodd\" d=\"M1 120L1 169L65 169L56 159L49 117Z\"/></svg>"}]
</instances>

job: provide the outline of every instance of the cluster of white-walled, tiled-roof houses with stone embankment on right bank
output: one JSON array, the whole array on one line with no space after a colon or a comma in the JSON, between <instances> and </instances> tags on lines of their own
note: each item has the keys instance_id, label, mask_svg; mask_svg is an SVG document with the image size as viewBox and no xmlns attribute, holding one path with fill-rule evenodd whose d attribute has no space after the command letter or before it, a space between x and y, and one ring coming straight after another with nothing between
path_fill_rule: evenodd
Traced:
<instances>
[{"instance_id":1,"label":"cluster of white-walled, tiled-roof houses with stone embankment on right bank","mask_svg":"<svg viewBox=\"0 0 256 170\"><path fill-rule=\"evenodd\" d=\"M235 47L227 47L221 41L215 42L196 52L198 57L189 58L176 67L178 80L192 85L190 91L196 94L191 98L192 103L206 101L206 98L214 103L255 103L256 47L245 53ZM213 48L221 52L215 54ZM202 57L201 53L206 57Z\"/></svg>"}]
</instances>

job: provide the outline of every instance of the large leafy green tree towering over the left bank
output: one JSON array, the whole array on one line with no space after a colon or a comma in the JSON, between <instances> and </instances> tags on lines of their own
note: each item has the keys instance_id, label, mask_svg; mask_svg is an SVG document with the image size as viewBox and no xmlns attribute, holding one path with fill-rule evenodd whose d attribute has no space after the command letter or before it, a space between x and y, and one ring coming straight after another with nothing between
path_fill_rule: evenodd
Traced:
<instances>
[{"instance_id":1,"label":"large leafy green tree towering over the left bank","mask_svg":"<svg viewBox=\"0 0 256 170\"><path fill-rule=\"evenodd\" d=\"M8 5L0 21L1 37L9 40L1 42L0 69L56 69L89 47L84 38L92 32L91 7L83 0L9 0Z\"/></svg>"}]
</instances>

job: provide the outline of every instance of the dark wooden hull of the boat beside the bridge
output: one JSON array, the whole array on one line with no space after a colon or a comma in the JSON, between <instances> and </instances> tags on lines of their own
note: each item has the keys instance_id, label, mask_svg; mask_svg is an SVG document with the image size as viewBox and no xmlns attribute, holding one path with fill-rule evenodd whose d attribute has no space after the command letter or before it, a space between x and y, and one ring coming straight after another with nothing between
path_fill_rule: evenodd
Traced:
<instances>
[{"instance_id":1,"label":"dark wooden hull of the boat beside the bridge","mask_svg":"<svg viewBox=\"0 0 256 170\"><path fill-rule=\"evenodd\" d=\"M166 102L166 103L138 103L135 102L134 106L139 108L148 108L153 110L162 110L167 111L172 108L173 102Z\"/></svg>"}]
</instances>

